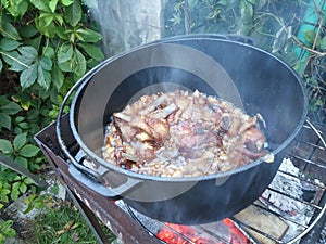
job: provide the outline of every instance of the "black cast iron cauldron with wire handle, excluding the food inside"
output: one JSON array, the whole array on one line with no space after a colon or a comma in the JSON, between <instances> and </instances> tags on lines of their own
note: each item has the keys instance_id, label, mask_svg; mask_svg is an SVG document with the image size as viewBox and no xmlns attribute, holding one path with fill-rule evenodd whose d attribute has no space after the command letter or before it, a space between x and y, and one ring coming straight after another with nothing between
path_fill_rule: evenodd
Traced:
<instances>
[{"instance_id":1,"label":"black cast iron cauldron with wire handle, excluding the food inside","mask_svg":"<svg viewBox=\"0 0 326 244\"><path fill-rule=\"evenodd\" d=\"M78 90L70 124L79 145L72 155L62 140L62 110ZM233 171L204 177L167 178L136 174L101 157L104 128L113 112L143 93L175 88L226 99L246 113L260 113L275 156ZM161 221L199 224L230 217L268 187L306 116L306 97L298 75L283 61L251 44L214 35L181 36L137 47L99 64L68 92L57 133L70 157L71 174L93 191L120 198Z\"/></svg>"}]
</instances>

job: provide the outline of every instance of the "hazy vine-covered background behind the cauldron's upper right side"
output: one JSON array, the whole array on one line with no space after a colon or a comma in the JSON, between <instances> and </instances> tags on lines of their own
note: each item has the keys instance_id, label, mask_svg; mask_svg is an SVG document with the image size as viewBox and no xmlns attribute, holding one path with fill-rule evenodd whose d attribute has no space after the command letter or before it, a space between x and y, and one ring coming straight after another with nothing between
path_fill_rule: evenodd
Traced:
<instances>
[{"instance_id":1,"label":"hazy vine-covered background behind the cauldron's upper right side","mask_svg":"<svg viewBox=\"0 0 326 244\"><path fill-rule=\"evenodd\" d=\"M304 78L310 92L310 110L325 114L326 17L315 1L314 5L308 2L168 0L164 12L165 36L204 33L247 36L255 46L289 63ZM310 9L310 15L317 15L319 21L302 30L302 25L308 23L305 11ZM303 33L300 40L296 37L299 31Z\"/></svg>"}]
</instances>

